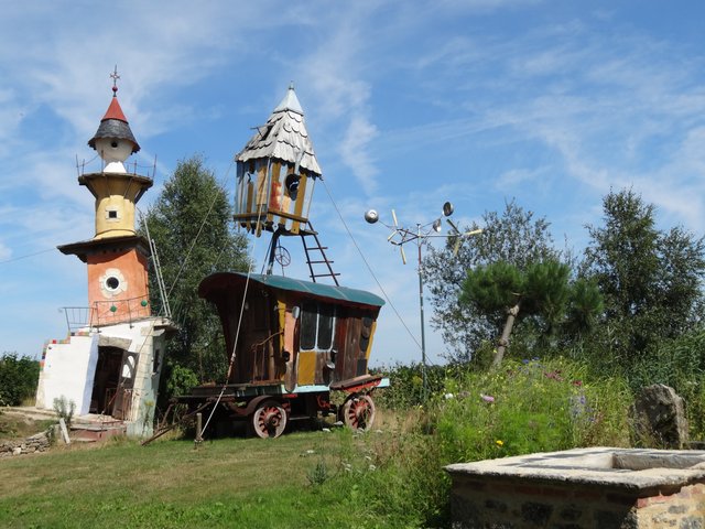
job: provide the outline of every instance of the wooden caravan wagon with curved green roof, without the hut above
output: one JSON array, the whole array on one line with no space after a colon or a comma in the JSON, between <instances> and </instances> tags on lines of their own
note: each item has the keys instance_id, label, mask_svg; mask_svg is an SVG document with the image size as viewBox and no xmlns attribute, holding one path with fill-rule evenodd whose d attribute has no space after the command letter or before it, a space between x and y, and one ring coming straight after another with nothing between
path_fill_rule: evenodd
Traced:
<instances>
[{"instance_id":1,"label":"wooden caravan wagon with curved green roof, without the hut above","mask_svg":"<svg viewBox=\"0 0 705 529\"><path fill-rule=\"evenodd\" d=\"M248 420L261 438L279 436L290 420L319 413L336 414L352 429L370 428L371 391L389 384L367 369L381 298L281 276L229 272L207 277L198 294L216 305L234 363L225 391L199 386L178 402L194 409L217 403L221 420ZM330 391L343 392L344 403L333 403Z\"/></svg>"}]
</instances>

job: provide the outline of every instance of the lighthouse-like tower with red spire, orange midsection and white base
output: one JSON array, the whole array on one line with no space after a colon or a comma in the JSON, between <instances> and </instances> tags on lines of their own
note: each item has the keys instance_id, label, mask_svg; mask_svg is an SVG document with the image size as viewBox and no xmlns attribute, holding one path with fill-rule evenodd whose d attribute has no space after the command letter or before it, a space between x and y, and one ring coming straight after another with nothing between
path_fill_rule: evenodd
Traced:
<instances>
[{"instance_id":1,"label":"lighthouse-like tower with red spire, orange midsection and white base","mask_svg":"<svg viewBox=\"0 0 705 529\"><path fill-rule=\"evenodd\" d=\"M113 80L119 76L113 74ZM169 314L152 313L148 259L151 248L134 229L135 204L152 179L124 166L140 150L112 86L112 100L88 144L101 168L78 183L95 196L93 239L59 246L87 264L88 306L68 307L69 335L44 347L36 407L55 399L76 404L76 414L122 421L129 435L150 435L167 334Z\"/></svg>"}]
</instances>

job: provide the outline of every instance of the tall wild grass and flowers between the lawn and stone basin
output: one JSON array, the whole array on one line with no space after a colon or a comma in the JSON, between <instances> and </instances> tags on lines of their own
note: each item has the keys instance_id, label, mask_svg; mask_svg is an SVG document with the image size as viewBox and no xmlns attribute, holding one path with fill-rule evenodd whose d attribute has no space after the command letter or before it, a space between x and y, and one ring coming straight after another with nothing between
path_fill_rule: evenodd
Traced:
<instances>
[{"instance_id":1,"label":"tall wild grass and flowers between the lawn and stone basin","mask_svg":"<svg viewBox=\"0 0 705 529\"><path fill-rule=\"evenodd\" d=\"M598 378L563 358L509 360L498 370L452 366L443 373L430 377L434 391L424 404L398 411L392 428L359 439L357 457L372 454L376 471L359 473L356 489L365 490L378 520L400 520L379 527L447 527L449 479L443 466L451 463L629 445L631 392L622 378ZM390 376L388 402L403 402L394 392L406 385L417 388L409 368L403 377Z\"/></svg>"}]
</instances>

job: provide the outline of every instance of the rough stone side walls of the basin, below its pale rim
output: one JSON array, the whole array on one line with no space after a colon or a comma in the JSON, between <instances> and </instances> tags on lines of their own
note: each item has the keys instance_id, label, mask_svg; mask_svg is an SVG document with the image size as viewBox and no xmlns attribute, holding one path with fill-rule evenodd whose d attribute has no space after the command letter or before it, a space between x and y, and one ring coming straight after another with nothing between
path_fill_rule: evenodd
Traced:
<instances>
[{"instance_id":1,"label":"rough stone side walls of the basin, below its pale rim","mask_svg":"<svg viewBox=\"0 0 705 529\"><path fill-rule=\"evenodd\" d=\"M454 529L677 529L705 528L705 485L637 497L605 487L525 484L508 479L453 479Z\"/></svg>"}]
</instances>

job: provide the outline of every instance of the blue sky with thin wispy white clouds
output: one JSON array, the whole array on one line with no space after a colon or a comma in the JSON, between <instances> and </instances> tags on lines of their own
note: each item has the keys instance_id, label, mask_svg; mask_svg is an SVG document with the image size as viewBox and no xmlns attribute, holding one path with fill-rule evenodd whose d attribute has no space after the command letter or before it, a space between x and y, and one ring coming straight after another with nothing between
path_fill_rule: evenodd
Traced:
<instances>
[{"instance_id":1,"label":"blue sky with thin wispy white clouds","mask_svg":"<svg viewBox=\"0 0 705 529\"><path fill-rule=\"evenodd\" d=\"M94 234L75 164L94 155L116 64L137 161L158 160L141 208L194 153L234 188L232 156L293 80L326 186L416 336L415 267L370 207L414 226L451 199L467 223L514 197L579 253L601 197L632 187L663 227L703 235L703 2L2 3L0 352L40 355L66 335L59 309L87 303L84 264L52 249ZM343 283L377 291L323 186L311 218ZM440 361L429 326L427 344ZM373 355L421 356L389 306Z\"/></svg>"}]
</instances>

